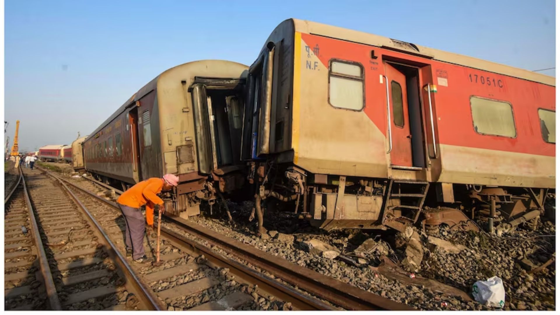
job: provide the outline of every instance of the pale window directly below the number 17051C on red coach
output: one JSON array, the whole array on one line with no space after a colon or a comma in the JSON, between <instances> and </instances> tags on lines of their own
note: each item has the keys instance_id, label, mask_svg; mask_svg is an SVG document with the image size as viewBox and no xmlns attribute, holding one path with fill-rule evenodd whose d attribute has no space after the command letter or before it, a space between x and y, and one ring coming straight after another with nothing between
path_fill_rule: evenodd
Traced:
<instances>
[{"instance_id":1,"label":"pale window directly below the number 17051C on red coach","mask_svg":"<svg viewBox=\"0 0 560 315\"><path fill-rule=\"evenodd\" d=\"M471 96L474 131L481 135L515 138L514 110L510 103Z\"/></svg>"}]
</instances>

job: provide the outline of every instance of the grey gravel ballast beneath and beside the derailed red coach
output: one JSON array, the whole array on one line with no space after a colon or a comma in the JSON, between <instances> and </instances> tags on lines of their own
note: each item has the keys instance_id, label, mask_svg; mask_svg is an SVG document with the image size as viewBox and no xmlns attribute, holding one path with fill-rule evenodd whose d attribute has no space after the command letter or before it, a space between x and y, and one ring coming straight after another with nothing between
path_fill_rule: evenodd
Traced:
<instances>
[{"instance_id":1,"label":"grey gravel ballast beneath and beside the derailed red coach","mask_svg":"<svg viewBox=\"0 0 560 315\"><path fill-rule=\"evenodd\" d=\"M92 191L103 191L84 179L70 178L70 180L80 183L82 187ZM377 274L370 266L376 266L380 262L381 255L391 258L398 265L406 256L404 249L397 246L401 236L394 231L340 230L327 233L312 228L304 220L293 221L293 215L272 214L268 213L272 211L268 211L265 213L265 228L269 230L269 233L258 237L253 233L256 230L256 219L251 223L248 222L253 203L228 201L228 207L236 224L230 224L225 220L225 215L220 211L218 205L214 206L213 217L200 215L192 217L190 220L300 266L418 309L492 309L475 301L467 302L459 297L451 298L423 286L409 285ZM166 227L180 231L172 225L166 225ZM497 275L502 278L506 288L504 309L556 309L554 303L555 264L550 265L539 274L529 275L519 263L523 258L529 258L536 265L548 260L550 254L554 252L555 238L542 235L556 234L556 227L552 223L540 224L536 231L518 228L513 233L502 235L502 237L492 237L484 232L472 233L445 229L441 229L439 233L438 238L449 240L454 244L465 245L468 249L454 254L430 248L426 242L427 235L419 233L422 234L422 245L426 247L426 250L422 264L416 272L417 276L440 281L470 294L475 281L486 280L488 277ZM185 233L181 231L181 234ZM323 257L320 254L310 253L305 246L306 241L317 239L333 246L341 253L352 254L354 249L370 238L379 244L379 248L361 257L362 263L358 267ZM428 250L428 248L430 249ZM226 254L215 247L213 249ZM226 256L231 257L227 254ZM231 258L235 259L235 257ZM353 258L356 259L356 257ZM259 268L251 267L260 271ZM401 267L406 268L403 265ZM260 298L264 298L265 301L259 302ZM185 309L189 307L188 305L193 304L185 301L183 304L175 305L177 306L170 306ZM276 301L268 300L267 297L259 297L255 298L254 305L244 305L239 309L276 308L278 308ZM285 304L279 309L284 308L286 308Z\"/></svg>"}]
</instances>

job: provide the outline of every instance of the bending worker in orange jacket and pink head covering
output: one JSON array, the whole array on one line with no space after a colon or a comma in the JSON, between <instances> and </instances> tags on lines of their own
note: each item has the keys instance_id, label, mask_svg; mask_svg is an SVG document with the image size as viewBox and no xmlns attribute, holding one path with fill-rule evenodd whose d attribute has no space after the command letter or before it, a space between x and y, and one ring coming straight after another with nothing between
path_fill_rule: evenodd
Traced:
<instances>
[{"instance_id":1,"label":"bending worker in orange jacket and pink head covering","mask_svg":"<svg viewBox=\"0 0 560 315\"><path fill-rule=\"evenodd\" d=\"M146 225L140 208L146 205L146 221L153 228L153 210L164 211L164 201L157 194L162 191L169 191L171 187L176 187L178 183L179 177L173 174L166 174L163 178L148 178L130 187L116 200L127 225L125 231L127 257L132 256L134 262L147 263L153 261L152 258L146 257L144 252L143 239Z\"/></svg>"}]
</instances>

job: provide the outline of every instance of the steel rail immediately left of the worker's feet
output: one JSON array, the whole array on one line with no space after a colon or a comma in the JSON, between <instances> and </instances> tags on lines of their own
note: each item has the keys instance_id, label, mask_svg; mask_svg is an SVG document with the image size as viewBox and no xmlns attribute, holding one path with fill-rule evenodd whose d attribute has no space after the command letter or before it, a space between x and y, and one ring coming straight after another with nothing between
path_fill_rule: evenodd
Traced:
<instances>
[{"instance_id":1,"label":"steel rail immediately left of the worker's feet","mask_svg":"<svg viewBox=\"0 0 560 315\"><path fill-rule=\"evenodd\" d=\"M45 174L49 175L50 177L58 180L60 185L69 194L69 196L72 197L72 199L74 200L74 202L76 202L76 204L81 209L81 211L84 214L86 214L86 219L90 222L90 226L95 226L95 228L97 229L97 232L103 238L104 243L106 245L105 247L107 249L107 253L109 254L109 257L119 265L120 270L123 271L126 279L127 280L132 280L132 281L127 282L127 284L132 285L133 288L134 288L134 293L139 294L138 298L141 301L141 303L143 304L144 308L148 309L148 310L153 310L153 311L166 310L167 309L166 305L164 305L155 296L155 294L153 294L153 291L151 289L147 288L143 284L143 282L136 276L136 274L132 270L132 267L130 267L130 265L126 261L126 258L123 257L123 255L119 252L119 250L116 248L116 246L113 244L113 242L111 242L111 240L109 239L109 235L107 235L105 233L105 231L103 230L101 225L97 222L97 220L95 220L94 216L92 216L90 211L87 210L87 207L85 205L83 205L83 203L70 190L70 188L68 188L68 186L66 186L66 184L64 182L66 182L68 184L71 184L74 187L75 187L75 185L67 182L66 180L64 180L62 178L59 178L57 175L54 175L54 174L48 172L45 169L42 169L42 168L39 168L39 169L42 172L44 172Z\"/></svg>"}]
</instances>

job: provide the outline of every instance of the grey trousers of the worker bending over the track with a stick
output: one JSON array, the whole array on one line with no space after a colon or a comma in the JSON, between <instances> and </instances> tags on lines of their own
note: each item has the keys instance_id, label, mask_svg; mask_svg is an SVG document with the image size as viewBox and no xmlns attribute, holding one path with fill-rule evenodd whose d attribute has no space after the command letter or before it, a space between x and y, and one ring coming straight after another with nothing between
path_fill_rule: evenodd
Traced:
<instances>
[{"instance_id":1,"label":"grey trousers of the worker bending over the track with a stick","mask_svg":"<svg viewBox=\"0 0 560 315\"><path fill-rule=\"evenodd\" d=\"M132 249L132 258L138 259L144 256L144 233L146 232L146 224L144 223L144 215L140 209L129 206L123 206L118 203L120 211L123 212L124 221L127 224L125 230L125 241L127 249Z\"/></svg>"}]
</instances>

